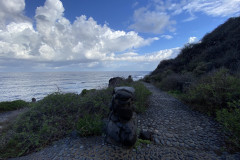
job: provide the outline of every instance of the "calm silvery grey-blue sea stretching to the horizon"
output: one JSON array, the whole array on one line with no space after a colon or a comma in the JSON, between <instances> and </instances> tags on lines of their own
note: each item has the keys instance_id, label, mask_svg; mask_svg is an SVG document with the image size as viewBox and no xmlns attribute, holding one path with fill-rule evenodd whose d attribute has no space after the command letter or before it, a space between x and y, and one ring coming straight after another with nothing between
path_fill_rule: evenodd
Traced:
<instances>
[{"instance_id":1,"label":"calm silvery grey-blue sea stretching to the horizon","mask_svg":"<svg viewBox=\"0 0 240 160\"><path fill-rule=\"evenodd\" d=\"M0 101L22 99L37 100L58 91L81 93L83 89L99 89L108 85L112 77L133 80L143 78L149 72L44 72L44 73L4 73L0 72Z\"/></svg>"}]
</instances>

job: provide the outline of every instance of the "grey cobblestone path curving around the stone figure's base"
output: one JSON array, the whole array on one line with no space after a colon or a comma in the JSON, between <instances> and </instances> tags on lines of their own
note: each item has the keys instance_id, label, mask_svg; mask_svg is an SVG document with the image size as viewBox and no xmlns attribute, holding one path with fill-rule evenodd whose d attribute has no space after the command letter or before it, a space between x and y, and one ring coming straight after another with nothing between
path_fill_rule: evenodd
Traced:
<instances>
[{"instance_id":1,"label":"grey cobblestone path curving around the stone figure's base","mask_svg":"<svg viewBox=\"0 0 240 160\"><path fill-rule=\"evenodd\" d=\"M24 159L240 159L240 153L224 152L225 135L212 118L187 106L151 84L149 108L138 115L138 128L153 132L151 144L126 149L104 144L101 136L70 136Z\"/></svg>"}]
</instances>

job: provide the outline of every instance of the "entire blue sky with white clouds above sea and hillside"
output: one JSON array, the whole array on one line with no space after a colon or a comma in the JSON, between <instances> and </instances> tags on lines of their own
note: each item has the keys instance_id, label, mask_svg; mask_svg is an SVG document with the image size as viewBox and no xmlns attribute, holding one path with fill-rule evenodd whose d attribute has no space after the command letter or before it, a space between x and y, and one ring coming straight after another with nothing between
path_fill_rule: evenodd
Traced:
<instances>
[{"instance_id":1,"label":"entire blue sky with white clouds above sea and hillside","mask_svg":"<svg viewBox=\"0 0 240 160\"><path fill-rule=\"evenodd\" d=\"M240 0L0 0L0 72L153 71Z\"/></svg>"}]
</instances>

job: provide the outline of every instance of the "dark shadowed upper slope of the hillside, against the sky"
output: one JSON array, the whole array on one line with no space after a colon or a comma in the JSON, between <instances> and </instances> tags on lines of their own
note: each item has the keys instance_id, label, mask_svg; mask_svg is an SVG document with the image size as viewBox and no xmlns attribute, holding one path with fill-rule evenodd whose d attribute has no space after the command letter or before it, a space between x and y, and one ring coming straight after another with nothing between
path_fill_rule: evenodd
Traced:
<instances>
[{"instance_id":1,"label":"dark shadowed upper slope of the hillside, against the sky","mask_svg":"<svg viewBox=\"0 0 240 160\"><path fill-rule=\"evenodd\" d=\"M186 45L175 59L162 61L150 77L160 80L172 72L199 76L221 67L232 72L240 70L240 17L230 18L200 43Z\"/></svg>"}]
</instances>

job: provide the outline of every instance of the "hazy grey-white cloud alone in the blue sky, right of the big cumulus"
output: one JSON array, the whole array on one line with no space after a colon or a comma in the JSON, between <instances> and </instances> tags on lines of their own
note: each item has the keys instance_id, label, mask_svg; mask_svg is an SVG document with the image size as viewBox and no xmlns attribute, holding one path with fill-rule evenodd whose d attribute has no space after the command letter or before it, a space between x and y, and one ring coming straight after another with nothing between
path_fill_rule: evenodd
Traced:
<instances>
[{"instance_id":1,"label":"hazy grey-white cloud alone in the blue sky, right of the big cumulus","mask_svg":"<svg viewBox=\"0 0 240 160\"><path fill-rule=\"evenodd\" d=\"M176 23L170 16L162 11L148 10L148 8L139 8L134 12L134 23L129 26L138 32L144 33L163 33L164 31L175 31L173 27Z\"/></svg>"}]
</instances>

